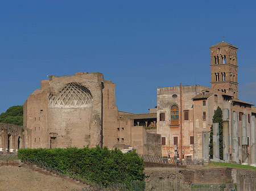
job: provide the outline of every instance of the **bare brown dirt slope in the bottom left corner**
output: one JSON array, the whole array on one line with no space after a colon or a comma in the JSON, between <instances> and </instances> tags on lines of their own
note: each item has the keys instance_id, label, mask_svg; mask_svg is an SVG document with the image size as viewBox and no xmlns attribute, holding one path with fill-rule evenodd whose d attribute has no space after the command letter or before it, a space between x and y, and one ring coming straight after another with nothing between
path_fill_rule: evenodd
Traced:
<instances>
[{"instance_id":1,"label":"bare brown dirt slope in the bottom left corner","mask_svg":"<svg viewBox=\"0 0 256 191\"><path fill-rule=\"evenodd\" d=\"M23 167L0 167L0 190L47 191L81 189L85 185L64 180L60 177L43 175Z\"/></svg>"}]
</instances>

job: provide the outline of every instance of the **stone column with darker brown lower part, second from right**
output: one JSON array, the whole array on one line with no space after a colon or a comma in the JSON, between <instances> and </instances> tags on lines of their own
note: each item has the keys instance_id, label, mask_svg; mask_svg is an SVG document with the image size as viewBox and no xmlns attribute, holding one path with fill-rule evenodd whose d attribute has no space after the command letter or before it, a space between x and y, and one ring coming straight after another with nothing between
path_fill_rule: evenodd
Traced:
<instances>
[{"instance_id":1,"label":"stone column with darker brown lower part, second from right","mask_svg":"<svg viewBox=\"0 0 256 191\"><path fill-rule=\"evenodd\" d=\"M247 117L246 114L242 115L242 164L248 165L247 155Z\"/></svg>"}]
</instances>

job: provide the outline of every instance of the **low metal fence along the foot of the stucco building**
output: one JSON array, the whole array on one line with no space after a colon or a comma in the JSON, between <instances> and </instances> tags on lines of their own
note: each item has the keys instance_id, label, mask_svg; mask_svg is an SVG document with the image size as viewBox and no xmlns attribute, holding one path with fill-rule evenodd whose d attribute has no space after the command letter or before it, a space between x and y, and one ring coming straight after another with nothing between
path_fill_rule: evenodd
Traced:
<instances>
[{"instance_id":1,"label":"low metal fence along the foot of the stucco building","mask_svg":"<svg viewBox=\"0 0 256 191\"><path fill-rule=\"evenodd\" d=\"M167 158L163 156L151 156L151 155L139 155L143 158L144 162L154 163L166 163L166 164L177 164L177 159ZM204 159L192 159L192 160L179 160L179 165L203 165Z\"/></svg>"}]
</instances>

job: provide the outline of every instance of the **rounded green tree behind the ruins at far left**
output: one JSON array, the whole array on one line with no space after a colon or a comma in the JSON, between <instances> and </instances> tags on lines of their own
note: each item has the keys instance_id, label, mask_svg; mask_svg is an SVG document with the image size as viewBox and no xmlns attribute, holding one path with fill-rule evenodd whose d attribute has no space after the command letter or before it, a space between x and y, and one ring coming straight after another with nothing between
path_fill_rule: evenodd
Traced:
<instances>
[{"instance_id":1,"label":"rounded green tree behind the ruins at far left","mask_svg":"<svg viewBox=\"0 0 256 191\"><path fill-rule=\"evenodd\" d=\"M23 125L23 105L15 105L0 114L0 122L5 124Z\"/></svg>"}]
</instances>

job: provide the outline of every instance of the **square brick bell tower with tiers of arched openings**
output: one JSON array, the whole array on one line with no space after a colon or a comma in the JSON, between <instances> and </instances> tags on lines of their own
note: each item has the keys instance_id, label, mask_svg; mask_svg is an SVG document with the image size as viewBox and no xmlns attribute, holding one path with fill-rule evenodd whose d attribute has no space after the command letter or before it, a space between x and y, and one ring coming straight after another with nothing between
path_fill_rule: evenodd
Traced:
<instances>
[{"instance_id":1,"label":"square brick bell tower with tiers of arched openings","mask_svg":"<svg viewBox=\"0 0 256 191\"><path fill-rule=\"evenodd\" d=\"M222 41L210 46L210 84L224 94L238 98L236 46Z\"/></svg>"}]
</instances>

